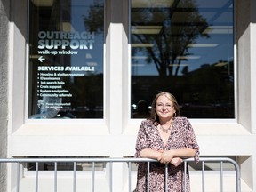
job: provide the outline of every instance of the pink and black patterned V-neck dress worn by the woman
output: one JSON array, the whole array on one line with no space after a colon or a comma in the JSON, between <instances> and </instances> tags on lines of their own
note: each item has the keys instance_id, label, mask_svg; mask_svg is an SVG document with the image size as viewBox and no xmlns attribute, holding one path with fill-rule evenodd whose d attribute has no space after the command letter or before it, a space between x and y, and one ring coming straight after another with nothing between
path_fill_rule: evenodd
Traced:
<instances>
[{"instance_id":1,"label":"pink and black patterned V-neck dress worn by the woman","mask_svg":"<svg viewBox=\"0 0 256 192\"><path fill-rule=\"evenodd\" d=\"M175 117L172 124L172 131L167 144L160 137L157 125L151 120L142 121L137 136L135 157L140 157L140 151L144 148L156 150L170 150L178 148L194 148L196 163L199 162L199 146L196 142L194 130L186 117ZM147 163L138 164L137 186L134 192L147 191ZM151 163L149 171L149 191L164 192L164 171L165 164ZM188 171L188 169L187 169ZM168 165L168 192L183 192L184 189L184 163L175 167ZM189 175L186 178L187 192L190 191Z\"/></svg>"}]
</instances>

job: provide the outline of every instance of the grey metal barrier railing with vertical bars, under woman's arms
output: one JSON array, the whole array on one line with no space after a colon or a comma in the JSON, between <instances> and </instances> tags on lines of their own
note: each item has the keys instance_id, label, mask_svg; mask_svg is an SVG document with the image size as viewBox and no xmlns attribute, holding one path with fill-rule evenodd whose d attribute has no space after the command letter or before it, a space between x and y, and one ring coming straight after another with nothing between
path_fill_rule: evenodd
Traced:
<instances>
[{"instance_id":1,"label":"grey metal barrier railing with vertical bars, under woman's arms","mask_svg":"<svg viewBox=\"0 0 256 192\"><path fill-rule=\"evenodd\" d=\"M16 164L16 192L20 192L20 164L24 163L34 163L36 164L36 178L35 178L35 192L39 191L38 182L39 182L39 163L53 163L53 172L54 172L54 192L57 192L57 178L58 178L58 164L60 163L71 163L73 164L73 176L72 176L72 185L73 192L76 192L76 164L78 163L90 163L92 164L92 192L95 191L95 164L96 163L108 163L109 164L109 191L113 191L113 186L115 183L113 182L113 164L115 163L125 163L128 164L128 191L132 192L132 163L140 163L145 162L148 164L148 177L149 177L149 166L150 163L156 162L156 160L148 159L148 158L10 158L10 159L0 159L0 164ZM184 159L184 170L185 174L187 172L187 167L190 162L194 162L193 158ZM224 186L224 163L230 163L234 165L236 171L236 192L241 191L241 183L240 183L240 169L239 165L231 158L227 157L202 157L200 158L200 162L202 163L202 169L199 171L202 175L202 191L205 191L205 163L219 163L220 164L220 191L223 192ZM168 166L165 165L165 174L168 174ZM165 178L167 178L165 176ZM185 175L186 178L186 175ZM148 191L149 191L149 180L148 180ZM167 192L167 180L164 181L165 191ZM184 180L185 192L186 192L186 181Z\"/></svg>"}]
</instances>

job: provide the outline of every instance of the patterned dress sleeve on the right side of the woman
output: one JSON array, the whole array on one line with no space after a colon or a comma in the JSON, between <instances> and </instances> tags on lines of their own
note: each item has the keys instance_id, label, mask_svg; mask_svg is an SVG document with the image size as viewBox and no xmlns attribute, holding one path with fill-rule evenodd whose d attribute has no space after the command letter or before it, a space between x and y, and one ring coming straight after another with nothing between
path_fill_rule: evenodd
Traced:
<instances>
[{"instance_id":1,"label":"patterned dress sleeve on the right side of the woman","mask_svg":"<svg viewBox=\"0 0 256 192\"><path fill-rule=\"evenodd\" d=\"M187 122L185 125L185 130L186 130L186 148L193 148L196 150L196 154L194 156L195 162L196 164L199 162L199 146L197 144L196 141L196 135L194 132L194 129L192 127L192 125L190 124L190 122L188 121L188 119L186 118Z\"/></svg>"}]
</instances>

